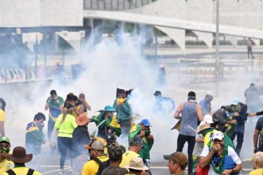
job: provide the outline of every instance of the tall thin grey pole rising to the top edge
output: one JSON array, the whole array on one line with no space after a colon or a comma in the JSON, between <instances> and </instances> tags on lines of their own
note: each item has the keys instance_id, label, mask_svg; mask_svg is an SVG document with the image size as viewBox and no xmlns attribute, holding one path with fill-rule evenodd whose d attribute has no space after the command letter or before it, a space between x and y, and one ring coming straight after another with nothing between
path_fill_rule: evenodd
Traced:
<instances>
[{"instance_id":1,"label":"tall thin grey pole rising to the top edge","mask_svg":"<svg viewBox=\"0 0 263 175\"><path fill-rule=\"evenodd\" d=\"M217 0L217 33L215 58L215 96L219 95L219 0Z\"/></svg>"}]
</instances>

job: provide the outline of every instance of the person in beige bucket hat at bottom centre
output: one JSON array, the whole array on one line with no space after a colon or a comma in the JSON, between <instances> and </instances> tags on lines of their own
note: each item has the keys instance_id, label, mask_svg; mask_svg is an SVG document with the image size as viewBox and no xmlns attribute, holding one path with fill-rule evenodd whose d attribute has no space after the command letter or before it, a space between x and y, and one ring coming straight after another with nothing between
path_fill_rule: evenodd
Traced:
<instances>
[{"instance_id":1,"label":"person in beige bucket hat at bottom centre","mask_svg":"<svg viewBox=\"0 0 263 175\"><path fill-rule=\"evenodd\" d=\"M143 165L143 159L141 157L133 157L125 168L129 169L129 174L125 175L141 175L143 171L149 169Z\"/></svg>"}]
</instances>

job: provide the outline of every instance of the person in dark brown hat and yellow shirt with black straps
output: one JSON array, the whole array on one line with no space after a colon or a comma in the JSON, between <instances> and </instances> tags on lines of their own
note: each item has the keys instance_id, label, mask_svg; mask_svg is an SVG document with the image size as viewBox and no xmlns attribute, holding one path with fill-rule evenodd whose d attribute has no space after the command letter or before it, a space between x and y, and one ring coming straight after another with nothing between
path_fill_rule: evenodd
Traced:
<instances>
[{"instance_id":1,"label":"person in dark brown hat and yellow shirt with black straps","mask_svg":"<svg viewBox=\"0 0 263 175\"><path fill-rule=\"evenodd\" d=\"M22 146L17 146L13 149L12 154L6 155L6 159L14 162L15 167L13 169L8 169L2 175L41 175L39 171L35 171L34 169L30 169L30 167L25 167L25 163L30 162L32 160L33 155L27 154L25 148Z\"/></svg>"}]
</instances>

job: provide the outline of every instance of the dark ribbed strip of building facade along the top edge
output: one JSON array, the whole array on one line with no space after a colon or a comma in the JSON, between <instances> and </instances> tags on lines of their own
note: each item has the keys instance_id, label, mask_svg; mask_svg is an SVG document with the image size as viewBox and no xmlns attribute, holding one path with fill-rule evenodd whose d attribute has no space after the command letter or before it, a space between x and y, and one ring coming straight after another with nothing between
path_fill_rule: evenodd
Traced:
<instances>
[{"instance_id":1,"label":"dark ribbed strip of building facade along the top edge","mask_svg":"<svg viewBox=\"0 0 263 175\"><path fill-rule=\"evenodd\" d=\"M157 0L84 0L84 10L124 11L145 6Z\"/></svg>"}]
</instances>

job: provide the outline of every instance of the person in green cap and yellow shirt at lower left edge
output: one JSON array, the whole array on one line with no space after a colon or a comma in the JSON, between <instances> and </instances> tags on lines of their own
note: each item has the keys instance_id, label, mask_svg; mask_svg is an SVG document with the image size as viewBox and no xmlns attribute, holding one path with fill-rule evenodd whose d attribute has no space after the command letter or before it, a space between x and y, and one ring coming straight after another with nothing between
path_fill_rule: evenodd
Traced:
<instances>
[{"instance_id":1,"label":"person in green cap and yellow shirt at lower left edge","mask_svg":"<svg viewBox=\"0 0 263 175\"><path fill-rule=\"evenodd\" d=\"M8 169L13 169L15 164L6 159L6 155L11 153L10 140L7 137L0 137L0 174L3 174Z\"/></svg>"}]
</instances>

